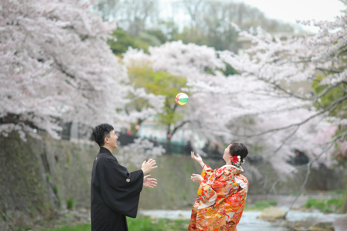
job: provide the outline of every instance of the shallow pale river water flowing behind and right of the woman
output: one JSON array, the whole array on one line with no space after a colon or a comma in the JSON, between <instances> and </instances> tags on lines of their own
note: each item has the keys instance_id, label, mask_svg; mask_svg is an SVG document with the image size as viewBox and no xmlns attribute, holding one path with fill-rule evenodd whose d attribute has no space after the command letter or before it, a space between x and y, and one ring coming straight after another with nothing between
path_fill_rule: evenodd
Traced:
<instances>
[{"instance_id":1,"label":"shallow pale river water flowing behind and right of the woman","mask_svg":"<svg viewBox=\"0 0 347 231\"><path fill-rule=\"evenodd\" d=\"M347 231L347 214L321 213L319 211L304 212L299 208L304 205L308 198L327 198L336 197L336 195L319 195L311 194L300 196L297 198L293 208L286 215L286 220L278 220L275 222L258 219L261 211L245 210L242 214L240 222L237 225L238 231L287 231L286 227L295 227L297 230L308 230L308 228L318 222L332 222L335 231ZM248 196L246 203L253 204L256 201L266 201L269 199L267 195ZM277 201L277 207L288 211L289 207L295 199L295 196L271 195L271 200ZM160 217L168 219L190 219L191 210L140 210L141 214L151 217Z\"/></svg>"}]
</instances>

